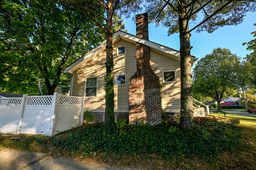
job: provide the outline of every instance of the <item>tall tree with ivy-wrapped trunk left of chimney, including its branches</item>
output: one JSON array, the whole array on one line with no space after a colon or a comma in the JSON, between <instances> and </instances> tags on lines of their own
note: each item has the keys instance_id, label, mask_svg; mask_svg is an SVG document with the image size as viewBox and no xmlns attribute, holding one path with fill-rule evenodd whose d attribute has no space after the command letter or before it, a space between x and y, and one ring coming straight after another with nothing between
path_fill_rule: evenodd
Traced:
<instances>
[{"instance_id":1,"label":"tall tree with ivy-wrapped trunk left of chimney, including its branches","mask_svg":"<svg viewBox=\"0 0 256 170\"><path fill-rule=\"evenodd\" d=\"M115 127L114 112L114 64L113 64L113 19L124 14L129 16L131 12L141 9L141 0L67 0L70 4L80 9L106 35L106 75L105 75L105 124L108 129ZM103 9L103 10L102 10ZM98 19L103 22L98 22Z\"/></svg>"}]
</instances>

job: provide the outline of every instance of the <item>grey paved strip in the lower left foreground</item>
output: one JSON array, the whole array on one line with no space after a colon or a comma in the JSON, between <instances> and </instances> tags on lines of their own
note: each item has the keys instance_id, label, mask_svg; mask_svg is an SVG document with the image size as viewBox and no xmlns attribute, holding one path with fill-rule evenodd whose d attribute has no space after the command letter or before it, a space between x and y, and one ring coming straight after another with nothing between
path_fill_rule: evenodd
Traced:
<instances>
[{"instance_id":1,"label":"grey paved strip in the lower left foreground","mask_svg":"<svg viewBox=\"0 0 256 170\"><path fill-rule=\"evenodd\" d=\"M0 148L0 170L137 170L82 163L60 156Z\"/></svg>"}]
</instances>

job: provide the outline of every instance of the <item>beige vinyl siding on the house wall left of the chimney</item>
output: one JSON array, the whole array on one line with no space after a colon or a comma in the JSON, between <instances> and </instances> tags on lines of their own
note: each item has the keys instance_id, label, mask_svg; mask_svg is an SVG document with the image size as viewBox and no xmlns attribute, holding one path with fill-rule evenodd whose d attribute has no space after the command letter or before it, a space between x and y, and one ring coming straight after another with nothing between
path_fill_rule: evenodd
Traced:
<instances>
[{"instance_id":1,"label":"beige vinyl siding on the house wall left of the chimney","mask_svg":"<svg viewBox=\"0 0 256 170\"><path fill-rule=\"evenodd\" d=\"M126 54L116 55L117 47L125 46ZM136 71L136 47L124 40L120 40L113 46L114 74L126 75L126 84L115 85L115 112L128 112L129 107L129 79ZM104 75L106 51L93 58L87 64L74 72L73 96L83 96L85 89L85 78L98 77L97 97L85 97L85 109L93 110L93 112L105 111L105 91L104 91Z\"/></svg>"}]
</instances>

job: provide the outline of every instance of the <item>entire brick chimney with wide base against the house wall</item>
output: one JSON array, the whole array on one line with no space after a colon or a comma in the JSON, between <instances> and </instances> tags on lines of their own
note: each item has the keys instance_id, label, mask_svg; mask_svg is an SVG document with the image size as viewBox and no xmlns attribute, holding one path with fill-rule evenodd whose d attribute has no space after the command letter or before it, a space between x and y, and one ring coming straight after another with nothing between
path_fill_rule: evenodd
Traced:
<instances>
[{"instance_id":1,"label":"entire brick chimney with wide base against the house wall","mask_svg":"<svg viewBox=\"0 0 256 170\"><path fill-rule=\"evenodd\" d=\"M148 14L136 15L136 36L148 40ZM136 43L137 70L129 80L129 122L158 124L161 118L159 77L150 67L150 49Z\"/></svg>"}]
</instances>

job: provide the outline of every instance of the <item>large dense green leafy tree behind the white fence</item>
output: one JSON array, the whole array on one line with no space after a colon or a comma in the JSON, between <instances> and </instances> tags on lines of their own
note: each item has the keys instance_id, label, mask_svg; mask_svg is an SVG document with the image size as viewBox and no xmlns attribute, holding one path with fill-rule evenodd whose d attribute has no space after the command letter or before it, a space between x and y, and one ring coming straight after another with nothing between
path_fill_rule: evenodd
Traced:
<instances>
[{"instance_id":1,"label":"large dense green leafy tree behind the white fence","mask_svg":"<svg viewBox=\"0 0 256 170\"><path fill-rule=\"evenodd\" d=\"M1 81L11 84L20 75L30 85L41 78L47 95L53 95L61 70L102 41L95 36L100 32L82 12L59 0L1 0L0 60L7 68Z\"/></svg>"}]
</instances>

